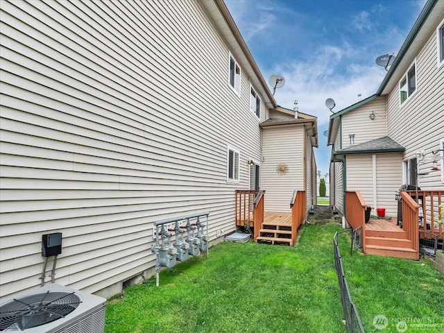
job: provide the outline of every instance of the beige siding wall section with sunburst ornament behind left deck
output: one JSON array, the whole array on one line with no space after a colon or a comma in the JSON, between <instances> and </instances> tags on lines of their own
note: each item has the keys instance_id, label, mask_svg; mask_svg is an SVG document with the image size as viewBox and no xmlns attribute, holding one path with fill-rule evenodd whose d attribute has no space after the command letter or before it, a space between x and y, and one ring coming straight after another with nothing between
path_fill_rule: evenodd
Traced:
<instances>
[{"instance_id":1,"label":"beige siding wall section with sunburst ornament behind left deck","mask_svg":"<svg viewBox=\"0 0 444 333\"><path fill-rule=\"evenodd\" d=\"M263 128L261 163L262 189L265 193L265 210L290 212L293 190L304 190L304 126L275 126ZM288 173L278 175L276 167L284 163Z\"/></svg>"}]
</instances>

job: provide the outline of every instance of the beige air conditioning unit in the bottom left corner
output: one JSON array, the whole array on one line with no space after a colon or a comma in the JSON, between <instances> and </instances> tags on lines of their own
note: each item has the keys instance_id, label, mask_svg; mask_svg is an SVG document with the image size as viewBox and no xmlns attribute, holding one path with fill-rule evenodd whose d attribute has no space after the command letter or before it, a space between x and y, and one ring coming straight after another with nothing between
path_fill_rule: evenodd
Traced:
<instances>
[{"instance_id":1,"label":"beige air conditioning unit in the bottom left corner","mask_svg":"<svg viewBox=\"0 0 444 333\"><path fill-rule=\"evenodd\" d=\"M48 284L0 305L0 332L103 333L105 298Z\"/></svg>"}]
</instances>

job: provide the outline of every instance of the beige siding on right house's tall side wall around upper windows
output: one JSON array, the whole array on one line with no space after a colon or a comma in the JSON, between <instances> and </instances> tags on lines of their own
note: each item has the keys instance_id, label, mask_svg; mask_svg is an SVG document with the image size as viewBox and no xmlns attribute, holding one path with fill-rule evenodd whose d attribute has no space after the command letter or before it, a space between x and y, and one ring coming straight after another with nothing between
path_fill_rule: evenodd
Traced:
<instances>
[{"instance_id":1,"label":"beige siding on right house's tall side wall around upper windows","mask_svg":"<svg viewBox=\"0 0 444 333\"><path fill-rule=\"evenodd\" d=\"M398 85L388 94L388 135L406 148L404 160L415 157L419 151L431 157L430 153L439 148L439 141L444 137L444 70L436 65L436 48L435 28L415 55L416 93L402 107ZM431 160L420 164L420 173L428 173L421 176L420 187L444 189L441 173L430 171L431 168Z\"/></svg>"}]
</instances>

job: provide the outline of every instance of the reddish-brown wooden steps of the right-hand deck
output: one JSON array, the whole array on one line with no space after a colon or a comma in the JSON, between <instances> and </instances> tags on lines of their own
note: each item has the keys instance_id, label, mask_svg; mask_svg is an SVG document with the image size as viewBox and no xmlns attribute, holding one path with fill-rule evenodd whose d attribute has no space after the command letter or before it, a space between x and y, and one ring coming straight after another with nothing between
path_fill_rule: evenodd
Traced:
<instances>
[{"instance_id":1,"label":"reddish-brown wooden steps of the right-hand deck","mask_svg":"<svg viewBox=\"0 0 444 333\"><path fill-rule=\"evenodd\" d=\"M416 259L412 241L407 239L407 232L398 230L366 230L366 248L368 255Z\"/></svg>"}]
</instances>

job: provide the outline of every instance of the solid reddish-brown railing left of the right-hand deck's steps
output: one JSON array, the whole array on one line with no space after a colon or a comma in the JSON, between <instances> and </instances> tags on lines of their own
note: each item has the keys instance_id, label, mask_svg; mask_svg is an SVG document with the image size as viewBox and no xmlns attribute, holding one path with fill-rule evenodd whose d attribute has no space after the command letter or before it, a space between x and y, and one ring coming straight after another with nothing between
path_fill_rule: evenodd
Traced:
<instances>
[{"instance_id":1,"label":"solid reddish-brown railing left of the right-hand deck's steps","mask_svg":"<svg viewBox=\"0 0 444 333\"><path fill-rule=\"evenodd\" d=\"M366 209L367 205L359 191L345 191L345 220L357 230L361 227L362 249L366 250Z\"/></svg>"}]
</instances>

